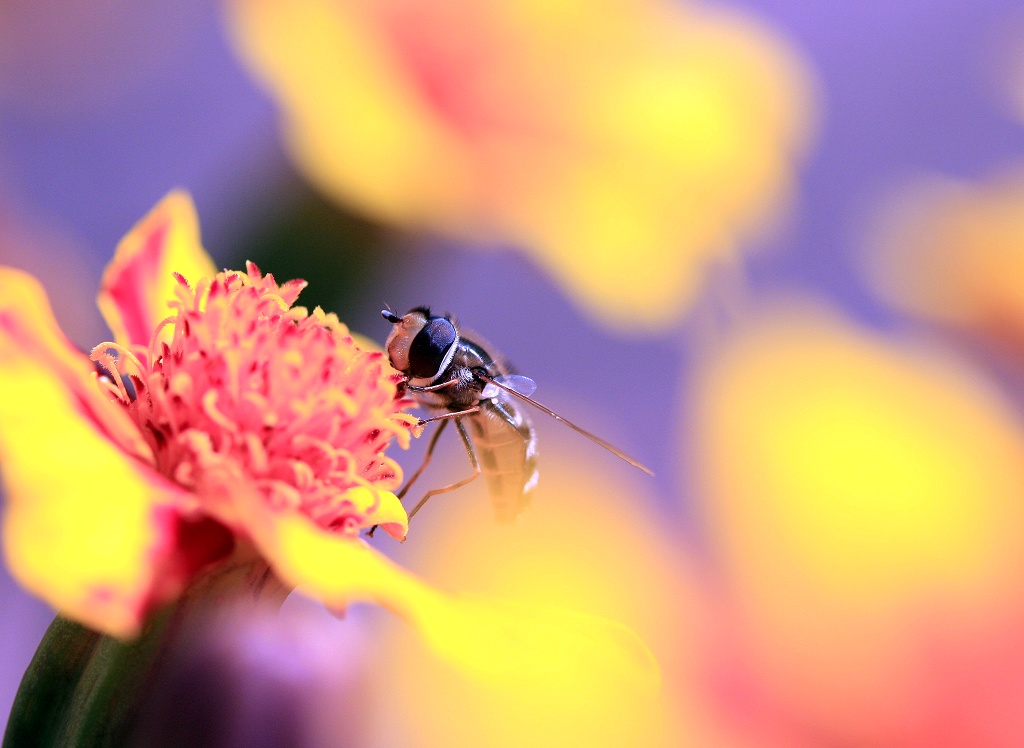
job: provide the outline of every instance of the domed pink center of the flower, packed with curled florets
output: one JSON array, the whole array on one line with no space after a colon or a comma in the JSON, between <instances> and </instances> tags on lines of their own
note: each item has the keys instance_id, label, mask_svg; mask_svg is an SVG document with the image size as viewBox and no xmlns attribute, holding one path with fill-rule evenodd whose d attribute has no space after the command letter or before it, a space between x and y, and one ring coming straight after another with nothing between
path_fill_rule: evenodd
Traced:
<instances>
[{"instance_id":1,"label":"domed pink center of the flower, packed with curled florets","mask_svg":"<svg viewBox=\"0 0 1024 748\"><path fill-rule=\"evenodd\" d=\"M156 468L200 504L211 475L218 491L243 481L275 509L354 534L362 516L345 492L401 481L384 455L392 437L408 443L415 422L401 413L400 375L383 354L360 349L335 315L293 306L304 281L279 286L247 269L195 288L178 277L176 313L147 349L103 343L93 358L115 375L105 386L138 424Z\"/></svg>"}]
</instances>

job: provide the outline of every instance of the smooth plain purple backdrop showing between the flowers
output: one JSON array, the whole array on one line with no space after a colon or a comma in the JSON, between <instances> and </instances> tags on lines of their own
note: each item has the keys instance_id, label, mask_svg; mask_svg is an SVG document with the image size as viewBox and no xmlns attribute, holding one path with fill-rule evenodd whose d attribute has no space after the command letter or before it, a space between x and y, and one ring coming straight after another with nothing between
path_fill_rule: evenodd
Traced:
<instances>
[{"instance_id":1,"label":"smooth plain purple backdrop showing between the flowers","mask_svg":"<svg viewBox=\"0 0 1024 748\"><path fill-rule=\"evenodd\" d=\"M193 193L207 248L237 265L257 216L304 188L216 5L103 0L88 14L85 4L19 5L0 11L0 262L46 274L61 323L84 347L106 335L92 295L114 245L168 189ZM754 288L813 290L866 322L897 324L857 275L873 206L920 173L980 178L1020 161L1024 128L1009 116L1000 71L1010 45L1024 44L1024 9L1019 0L731 5L805 55L821 111L792 225L750 260ZM457 311L501 341L545 402L585 414L650 464L667 512L685 507L679 401L693 323L657 339L612 337L513 252L434 244L387 258L346 318L353 328L382 339L385 301ZM540 427L542 439L558 428ZM0 600L5 719L51 613L2 571Z\"/></svg>"}]
</instances>

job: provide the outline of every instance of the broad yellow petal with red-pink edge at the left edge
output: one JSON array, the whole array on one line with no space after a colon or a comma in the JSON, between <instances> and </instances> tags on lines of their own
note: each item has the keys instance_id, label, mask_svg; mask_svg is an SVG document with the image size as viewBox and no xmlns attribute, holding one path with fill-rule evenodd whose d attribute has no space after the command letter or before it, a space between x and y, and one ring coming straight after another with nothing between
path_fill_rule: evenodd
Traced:
<instances>
[{"instance_id":1,"label":"broad yellow petal with red-pink edge at the left edge","mask_svg":"<svg viewBox=\"0 0 1024 748\"><path fill-rule=\"evenodd\" d=\"M0 315L7 566L60 613L131 636L175 586L165 572L179 490L108 439L51 362L10 334L11 322L20 320Z\"/></svg>"}]
</instances>

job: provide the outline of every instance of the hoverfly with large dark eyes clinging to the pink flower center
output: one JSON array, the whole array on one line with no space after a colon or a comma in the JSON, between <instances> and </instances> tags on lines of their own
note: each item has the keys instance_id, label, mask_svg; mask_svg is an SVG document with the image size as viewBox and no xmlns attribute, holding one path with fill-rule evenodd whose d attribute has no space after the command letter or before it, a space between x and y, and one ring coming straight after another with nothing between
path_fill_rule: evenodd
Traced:
<instances>
[{"instance_id":1,"label":"hoverfly with large dark eyes clinging to the pink flower center","mask_svg":"<svg viewBox=\"0 0 1024 748\"><path fill-rule=\"evenodd\" d=\"M426 306L417 306L400 317L384 309L381 316L393 325L385 343L391 366L406 375L406 388L413 398L436 413L421 419L420 424L438 423L423 463L398 498L404 497L426 469L437 441L452 421L473 466L469 477L428 491L409 512L410 518L430 497L461 488L481 473L487 479L498 520L511 522L519 515L538 479L537 434L520 403L534 406L634 467L654 474L603 439L530 398L537 387L534 380L512 373L500 357L461 334L450 316L431 315Z\"/></svg>"}]
</instances>

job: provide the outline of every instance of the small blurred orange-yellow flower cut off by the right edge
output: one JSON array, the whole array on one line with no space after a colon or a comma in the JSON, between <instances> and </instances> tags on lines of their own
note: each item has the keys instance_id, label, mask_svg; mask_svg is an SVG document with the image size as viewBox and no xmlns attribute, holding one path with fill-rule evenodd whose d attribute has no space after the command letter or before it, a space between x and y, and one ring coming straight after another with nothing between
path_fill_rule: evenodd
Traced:
<instances>
[{"instance_id":1,"label":"small blurred orange-yellow flower cut off by the right edge","mask_svg":"<svg viewBox=\"0 0 1024 748\"><path fill-rule=\"evenodd\" d=\"M897 307L1024 346L1024 168L982 183L932 178L880 219L868 276Z\"/></svg>"}]
</instances>

